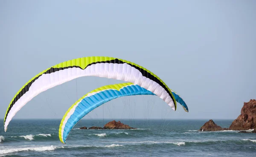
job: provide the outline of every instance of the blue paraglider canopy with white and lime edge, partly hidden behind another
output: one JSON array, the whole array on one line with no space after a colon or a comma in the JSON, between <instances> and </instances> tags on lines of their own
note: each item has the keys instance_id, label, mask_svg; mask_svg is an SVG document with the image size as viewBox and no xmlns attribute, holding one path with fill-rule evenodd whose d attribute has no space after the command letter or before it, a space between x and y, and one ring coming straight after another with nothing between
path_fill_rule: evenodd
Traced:
<instances>
[{"instance_id":1,"label":"blue paraglider canopy with white and lime edge, partly hidden behind another","mask_svg":"<svg viewBox=\"0 0 256 157\"><path fill-rule=\"evenodd\" d=\"M65 113L61 120L59 127L59 139L62 143L66 143L67 136L71 129L81 120L85 115L113 99L123 96L134 95L155 95L149 90L146 90L139 85L132 83L111 84L99 87L77 100ZM175 93L175 98L182 105L184 110L188 112L188 108L183 99Z\"/></svg>"}]
</instances>

